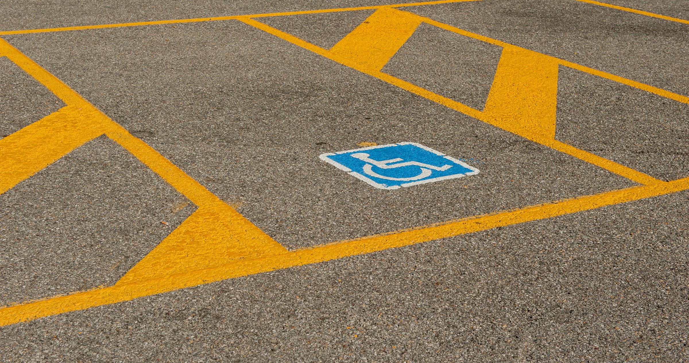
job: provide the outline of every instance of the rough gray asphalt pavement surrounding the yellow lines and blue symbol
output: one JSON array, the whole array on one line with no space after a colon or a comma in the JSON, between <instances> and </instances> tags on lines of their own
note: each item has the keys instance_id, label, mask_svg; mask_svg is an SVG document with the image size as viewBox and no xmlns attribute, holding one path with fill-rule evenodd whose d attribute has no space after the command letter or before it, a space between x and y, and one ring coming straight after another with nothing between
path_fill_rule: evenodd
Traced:
<instances>
[{"instance_id":1,"label":"rough gray asphalt pavement surrounding the yellow lines and blue symbol","mask_svg":"<svg viewBox=\"0 0 689 363\"><path fill-rule=\"evenodd\" d=\"M378 3L0 10L15 30ZM689 18L687 1L619 5ZM570 0L404 10L689 95L686 24ZM327 48L370 13L260 21ZM2 37L290 249L635 185L238 21ZM499 57L422 26L383 71L480 109ZM0 137L62 106L6 59L0 72ZM688 107L563 67L557 138L679 179ZM376 190L318 160L362 141L418 142L481 173ZM688 197L4 326L0 361L689 362ZM0 195L0 304L113 284L193 212L187 202L114 142L90 141Z\"/></svg>"}]
</instances>

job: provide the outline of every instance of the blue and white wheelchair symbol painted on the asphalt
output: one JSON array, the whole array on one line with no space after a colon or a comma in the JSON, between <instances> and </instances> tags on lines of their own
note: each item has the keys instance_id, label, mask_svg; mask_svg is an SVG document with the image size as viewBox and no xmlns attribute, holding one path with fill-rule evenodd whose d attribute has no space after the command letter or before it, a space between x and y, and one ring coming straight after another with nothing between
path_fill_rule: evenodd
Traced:
<instances>
[{"instance_id":1,"label":"blue and white wheelchair symbol painted on the asphalt","mask_svg":"<svg viewBox=\"0 0 689 363\"><path fill-rule=\"evenodd\" d=\"M320 159L380 189L433 183L479 172L473 166L413 142L325 153Z\"/></svg>"}]
</instances>

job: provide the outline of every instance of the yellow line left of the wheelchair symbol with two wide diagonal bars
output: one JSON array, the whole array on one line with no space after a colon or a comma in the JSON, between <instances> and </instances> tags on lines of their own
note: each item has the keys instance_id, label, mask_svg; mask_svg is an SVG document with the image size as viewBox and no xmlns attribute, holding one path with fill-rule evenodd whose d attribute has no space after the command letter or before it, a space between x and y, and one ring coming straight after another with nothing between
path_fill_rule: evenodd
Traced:
<instances>
[{"instance_id":1,"label":"yellow line left of the wheelchair symbol with two wide diagonal bars","mask_svg":"<svg viewBox=\"0 0 689 363\"><path fill-rule=\"evenodd\" d=\"M234 259L256 259L288 252L163 155L134 137L50 72L1 39L0 54L17 63L68 104L0 139L0 192L4 193L86 142L106 135L198 206L196 212L141 259L115 286L223 265ZM85 293L97 295L102 290L95 289ZM110 297L121 301L125 295ZM88 300L91 299L92 297L88 297ZM44 304L65 309L59 298L44 300ZM83 304L84 302L79 302L75 306ZM65 311L72 308L74 306ZM11 311L7 308L0 309L0 325L12 320L7 315Z\"/></svg>"}]
</instances>

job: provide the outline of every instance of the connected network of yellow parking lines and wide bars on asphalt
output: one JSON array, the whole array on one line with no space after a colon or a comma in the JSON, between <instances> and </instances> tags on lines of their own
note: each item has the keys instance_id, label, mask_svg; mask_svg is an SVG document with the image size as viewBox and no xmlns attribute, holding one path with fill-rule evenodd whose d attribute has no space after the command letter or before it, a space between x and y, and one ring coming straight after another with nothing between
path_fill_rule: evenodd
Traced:
<instances>
[{"instance_id":1,"label":"connected network of yellow parking lines and wide bars on asphalt","mask_svg":"<svg viewBox=\"0 0 689 363\"><path fill-rule=\"evenodd\" d=\"M449 2L457 2L457 0L431 1L425 4ZM132 300L136 297L206 284L220 279L382 251L387 248L408 246L433 239L551 218L689 189L689 177L668 182L660 181L639 173L637 170L553 139L551 130L555 121L551 119L551 111L555 109L557 98L553 97L550 92L553 92L552 84L556 81L553 77L557 77L554 66L559 65L575 68L582 72L588 72L592 75L627 84L628 86L687 104L689 104L688 97L581 66L564 59L557 59L512 46L496 39L483 37L482 35L433 21L433 19L418 17L418 15L395 9L412 5L424 5L424 3L220 18L106 24L103 26L18 30L0 32L0 35L236 19L333 61L342 63L345 66L360 70L367 75L426 97L438 104L453 108L476 119L521 135L531 141L549 146L601 168L606 168L613 171L613 173L628 177L633 181L637 181L641 186L288 251L269 235L254 226L254 224L251 224L232 207L218 199L216 195L210 193L209 190L196 180L186 175L183 170L145 144L144 141L132 136L122 126L116 124L107 115L83 99L81 95L51 75L50 72L44 70L37 63L19 52L19 50L0 39L0 57L8 57L10 61L16 63L67 104L59 111L44 117L30 126L22 128L8 137L0 139L0 193L4 193L4 191L14 187L23 179L37 173L37 171L50 165L90 139L94 139L99 135L106 135L132 153L143 164L153 170L154 173L160 175L171 186L198 206L196 212L163 239L161 244L158 244L151 253L146 255L113 286L94 288L90 291L77 291L64 296L46 297L41 300L0 308L0 325L14 324L68 311L77 311L93 306ZM289 14L361 10L364 8L377 9L376 12L378 14L374 12L376 17L371 15L373 17L371 20L379 22L373 24L374 28L380 31L399 31L398 37L395 38L395 35L389 34L373 36L369 31L364 31L371 26L362 25L363 28L355 30L351 37L347 36L349 39L342 43L340 50L336 49L338 52L333 52L314 46L302 39L252 19ZM367 48L364 39L367 39L367 37L368 39L402 39L407 37L409 28L416 23L416 20L412 18L503 47L504 59L501 58L500 60L499 69L493 81L493 88L491 88L491 95L489 95L489 98L492 97L490 107L483 111L476 110L460 102L410 84L402 79L380 72L377 68L390 55L391 49L389 48L376 50L375 54L371 55L371 61L362 57L362 52ZM390 22L394 21L394 19L400 19L402 26L391 25ZM391 42L395 47L400 43L403 42ZM544 86L542 88L544 92L538 92L538 85ZM515 99L514 95L519 95L519 97ZM528 108L526 104L532 101L535 104L533 110ZM360 157L362 157L360 160L363 160L364 156L360 155Z\"/></svg>"}]
</instances>

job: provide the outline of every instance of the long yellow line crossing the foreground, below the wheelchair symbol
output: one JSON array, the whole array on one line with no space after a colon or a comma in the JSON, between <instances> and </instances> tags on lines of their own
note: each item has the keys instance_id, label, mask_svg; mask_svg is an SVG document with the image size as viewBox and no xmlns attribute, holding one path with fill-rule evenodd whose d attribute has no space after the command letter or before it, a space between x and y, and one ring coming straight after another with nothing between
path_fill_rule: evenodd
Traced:
<instances>
[{"instance_id":1,"label":"long yellow line crossing the foreground, below the wheelchair symbol","mask_svg":"<svg viewBox=\"0 0 689 363\"><path fill-rule=\"evenodd\" d=\"M112 304L179 288L207 284L222 279L253 275L280 268L325 262L352 255L382 251L387 248L409 246L434 239L453 237L465 233L487 230L499 226L510 226L630 202L657 195L675 193L689 189L689 178L652 186L638 186L613 190L597 195L577 197L561 202L538 204L517 210L458 219L443 224L422 228L399 230L384 235L373 235L359 239L336 242L289 253L267 255L256 259L238 259L229 264L212 266L196 271L185 271L154 279L138 280L127 284L99 288L50 299L27 302L0 308L0 326L34 320L39 317L82 310L104 304Z\"/></svg>"}]
</instances>

